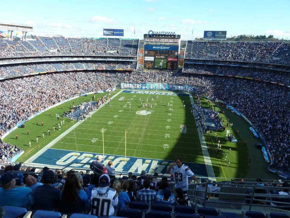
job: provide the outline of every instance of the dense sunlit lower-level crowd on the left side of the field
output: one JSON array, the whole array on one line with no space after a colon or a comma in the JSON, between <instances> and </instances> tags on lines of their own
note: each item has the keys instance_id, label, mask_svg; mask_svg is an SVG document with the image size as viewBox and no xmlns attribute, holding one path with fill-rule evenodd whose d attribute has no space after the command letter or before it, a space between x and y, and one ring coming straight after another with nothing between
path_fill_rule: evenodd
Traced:
<instances>
[{"instance_id":1,"label":"dense sunlit lower-level crowd on the left side of the field","mask_svg":"<svg viewBox=\"0 0 290 218\"><path fill-rule=\"evenodd\" d=\"M106 82L96 76L102 73L69 72L43 74L34 77L5 80L0 86L0 132L37 112L70 97L88 92L113 88L114 82ZM63 85L66 81L66 85Z\"/></svg>"}]
</instances>

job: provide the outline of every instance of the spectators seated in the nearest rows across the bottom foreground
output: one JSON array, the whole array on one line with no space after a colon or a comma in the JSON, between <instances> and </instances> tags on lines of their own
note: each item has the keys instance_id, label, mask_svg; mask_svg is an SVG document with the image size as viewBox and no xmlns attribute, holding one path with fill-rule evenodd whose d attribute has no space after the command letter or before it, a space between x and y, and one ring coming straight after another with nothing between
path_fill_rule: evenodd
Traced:
<instances>
[{"instance_id":1,"label":"spectators seated in the nearest rows across the bottom foreground","mask_svg":"<svg viewBox=\"0 0 290 218\"><path fill-rule=\"evenodd\" d=\"M110 164L108 163L105 167L100 160L95 162L99 162L103 169ZM120 174L117 177L114 170L112 173L103 171L102 174L93 173L91 170L83 173L66 169L50 170L49 167L31 168L25 167L23 163L18 163L2 166L0 173L0 206L24 207L34 211L54 210L63 214L89 213L97 216L111 216L134 201L147 203L151 208L154 203L166 204L171 207L176 205L193 207L193 203L202 205L205 200L211 201L211 198L219 197L220 192L230 193L233 190L230 187L247 188L246 193L249 196L254 192L254 204L282 206L289 199L281 198L281 196L290 196L289 184L277 180L256 179L256 182L232 180L217 183L201 179L201 183L191 187L195 190L193 199L183 192L182 188L171 189L174 184L172 177L160 177L158 173L148 175L144 170L140 176L129 172L126 176ZM222 188L223 190L221 190ZM102 208L105 209L104 211L95 210L95 198L101 200L102 194L106 194L105 199L110 200L107 205L108 210L105 208ZM259 194L272 194L272 196L256 196ZM250 199L251 197L246 197L246 203L250 203ZM269 201L265 202L265 200ZM214 202L218 203L218 199Z\"/></svg>"}]
</instances>

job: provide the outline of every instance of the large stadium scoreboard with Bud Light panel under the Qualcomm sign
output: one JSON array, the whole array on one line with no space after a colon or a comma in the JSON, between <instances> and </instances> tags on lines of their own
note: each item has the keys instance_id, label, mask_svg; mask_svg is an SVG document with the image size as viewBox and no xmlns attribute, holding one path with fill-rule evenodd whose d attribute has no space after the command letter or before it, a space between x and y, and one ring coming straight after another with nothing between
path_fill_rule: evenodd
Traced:
<instances>
[{"instance_id":1,"label":"large stadium scoreboard with Bud Light panel under the Qualcomm sign","mask_svg":"<svg viewBox=\"0 0 290 218\"><path fill-rule=\"evenodd\" d=\"M156 70L177 70L180 35L144 34L143 67Z\"/></svg>"}]
</instances>

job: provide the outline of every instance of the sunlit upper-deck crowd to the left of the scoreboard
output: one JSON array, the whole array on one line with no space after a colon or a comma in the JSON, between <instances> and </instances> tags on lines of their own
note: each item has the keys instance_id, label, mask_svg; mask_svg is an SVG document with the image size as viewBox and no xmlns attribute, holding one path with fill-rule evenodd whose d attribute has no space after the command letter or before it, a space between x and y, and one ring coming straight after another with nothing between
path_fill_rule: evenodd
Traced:
<instances>
[{"instance_id":1,"label":"sunlit upper-deck crowd to the left of the scoreboard","mask_svg":"<svg viewBox=\"0 0 290 218\"><path fill-rule=\"evenodd\" d=\"M122 43L122 41L125 41ZM0 57L45 56L45 55L111 55L107 51L114 51L115 56L137 56L138 39L93 39L93 38L65 38L31 36L31 39L9 41L0 39Z\"/></svg>"}]
</instances>

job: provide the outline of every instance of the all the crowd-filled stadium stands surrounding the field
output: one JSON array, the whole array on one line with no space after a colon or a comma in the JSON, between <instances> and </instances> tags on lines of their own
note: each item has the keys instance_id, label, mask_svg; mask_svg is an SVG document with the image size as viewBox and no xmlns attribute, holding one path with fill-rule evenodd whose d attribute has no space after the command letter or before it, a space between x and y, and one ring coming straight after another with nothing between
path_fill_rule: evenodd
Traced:
<instances>
[{"instance_id":1,"label":"all the crowd-filled stadium stands surrounding the field","mask_svg":"<svg viewBox=\"0 0 290 218\"><path fill-rule=\"evenodd\" d=\"M137 39L39 36L31 38L33 40L28 42L0 40L1 136L16 124L48 107L85 93L113 90L120 82L187 84L197 87L196 97L206 96L222 100L246 116L265 139L272 159L269 167L289 172L289 43L188 41L183 70L172 72L138 69ZM78 100L79 103L81 100ZM176 216L180 211L183 213L189 211L189 214L198 213L203 217L218 215L216 209L203 207L207 205L220 208L222 210L220 215L225 217L241 215L253 217L255 214L251 213L254 212L247 210L251 210L252 206L262 210L259 205L271 207L271 211L282 212L284 215L289 214L285 211L289 210L287 182L257 179L249 182L239 180L231 183L228 181L212 183L200 180L200 184L191 185L188 194L184 194L182 190L174 189L170 177L147 175L146 172L142 172L141 175L134 175L133 172L125 176L114 175L114 172L111 172L110 181L107 176L100 179L98 172L92 173L91 170L81 175L77 171L67 172L59 169L54 173L49 171L48 167L36 169L25 167L21 163L9 165L11 158L20 148L2 141L0 143L4 168L1 170L2 176L4 175L1 178L2 183L5 181L5 185L8 184L4 187L5 190L0 190L3 192L0 194L1 206L17 207L5 208L6 211L20 210L19 214L23 214L27 212L24 208L33 211L55 210L60 212L56 214L59 217L63 214L87 213L95 208L96 202L90 202L94 192L92 189L101 183L98 191L102 192L102 188L108 187L111 182L112 202L116 203L118 199L122 203L116 203L115 207L111 206L107 212L110 215L113 212L121 217L129 217L130 213L138 217L141 212L147 213L147 207L151 208L147 213L148 217L161 216L160 214L170 217L168 212L162 213L160 210L174 211ZM105 169L104 172L109 173L112 167L108 164ZM4 171L10 171L12 174L4 174ZM21 201L16 202L18 195L11 195L9 199L11 201L7 200L4 193L21 183L31 187L32 191L27 187L18 187L16 188L19 189L18 192L23 193ZM43 186L37 188L42 184L49 186L44 186L45 189ZM60 190L50 189L50 185L66 193L65 197L60 199ZM47 193L53 194L48 196ZM116 193L119 196L114 198ZM217 197L219 193L226 194ZM242 196L239 198L240 201L233 200L240 196ZM72 197L78 199L70 202L74 207L68 203ZM40 202L41 199L44 201ZM129 209L124 209L128 203ZM178 210L179 207L182 209ZM234 210L228 210L229 207ZM243 212L247 212L242 213L242 209ZM263 212L267 213L265 211ZM103 212L98 211L95 214L104 215ZM255 217L265 217L264 213L257 212ZM198 215L188 216L198 217Z\"/></svg>"}]
</instances>

